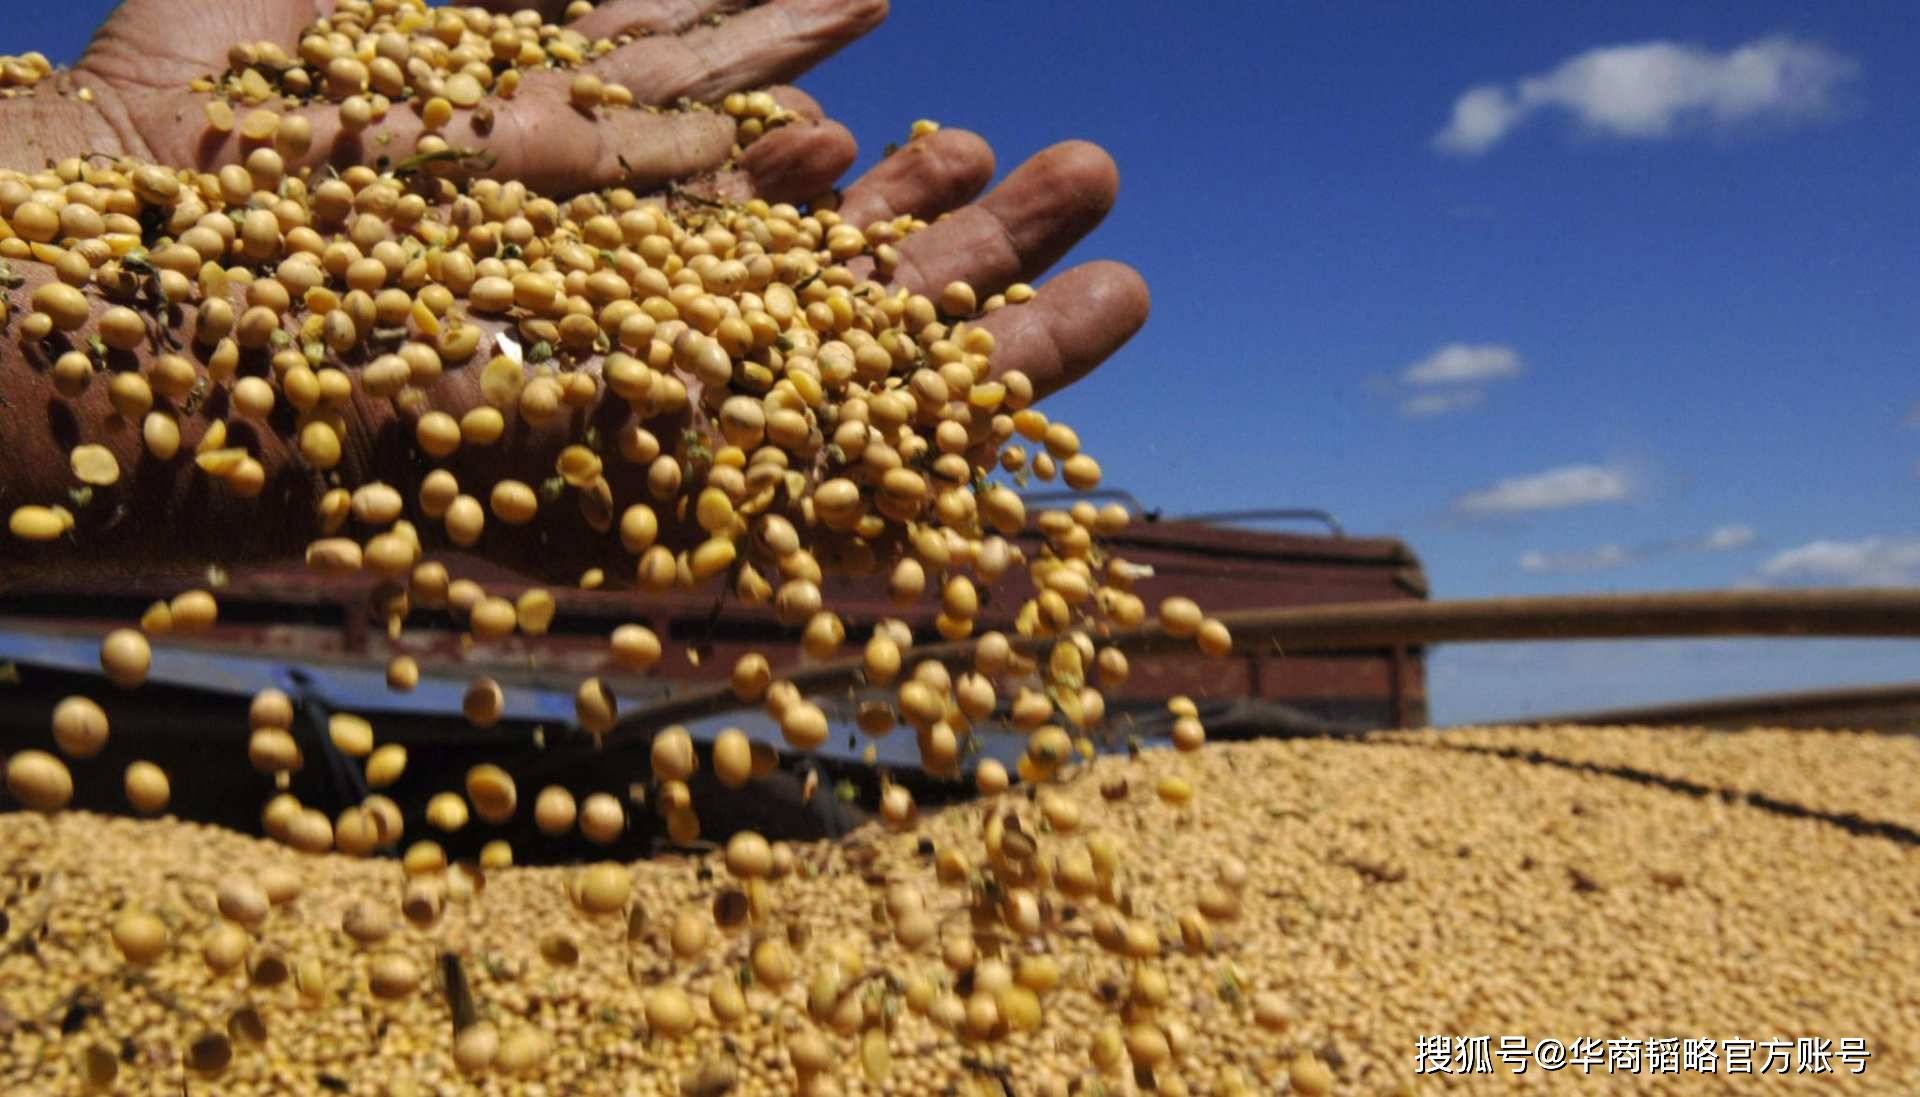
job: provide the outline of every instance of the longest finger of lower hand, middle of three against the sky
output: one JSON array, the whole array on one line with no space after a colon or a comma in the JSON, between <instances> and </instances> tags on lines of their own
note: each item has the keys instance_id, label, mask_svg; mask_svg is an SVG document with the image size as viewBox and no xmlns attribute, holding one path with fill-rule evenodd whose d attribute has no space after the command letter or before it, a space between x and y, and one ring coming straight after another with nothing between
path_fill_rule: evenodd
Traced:
<instances>
[{"instance_id":1,"label":"longest finger of lower hand, middle of three against the sky","mask_svg":"<svg viewBox=\"0 0 1920 1097\"><path fill-rule=\"evenodd\" d=\"M1085 140L1056 144L973 206L902 240L893 280L924 294L960 280L979 298L1031 282L1092 232L1117 190L1106 150Z\"/></svg>"}]
</instances>

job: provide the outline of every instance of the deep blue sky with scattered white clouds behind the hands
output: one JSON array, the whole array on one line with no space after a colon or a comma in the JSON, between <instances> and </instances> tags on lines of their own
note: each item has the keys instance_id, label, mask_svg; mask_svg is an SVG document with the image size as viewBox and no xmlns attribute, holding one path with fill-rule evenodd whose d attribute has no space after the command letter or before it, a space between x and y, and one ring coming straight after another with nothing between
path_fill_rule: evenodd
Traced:
<instances>
[{"instance_id":1,"label":"deep blue sky with scattered white clouds behind the hands","mask_svg":"<svg viewBox=\"0 0 1920 1097\"><path fill-rule=\"evenodd\" d=\"M71 60L106 8L6 48ZM803 86L862 165L922 115L1002 173L1114 154L1071 259L1139 267L1154 317L1050 411L1150 505L1329 507L1436 597L1920 582L1916 46L1905 4L897 0ZM1455 647L1430 690L1469 720L1914 667Z\"/></svg>"}]
</instances>

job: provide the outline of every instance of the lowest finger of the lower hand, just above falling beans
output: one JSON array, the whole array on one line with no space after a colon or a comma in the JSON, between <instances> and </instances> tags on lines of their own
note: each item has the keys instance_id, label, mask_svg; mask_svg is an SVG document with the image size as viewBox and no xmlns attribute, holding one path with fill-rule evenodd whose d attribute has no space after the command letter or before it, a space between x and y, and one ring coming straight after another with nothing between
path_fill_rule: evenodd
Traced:
<instances>
[{"instance_id":1,"label":"lowest finger of the lower hand, just above falling beans","mask_svg":"<svg viewBox=\"0 0 1920 1097\"><path fill-rule=\"evenodd\" d=\"M1031 302L977 321L995 336L993 365L1018 369L1046 396L1087 377L1146 323L1146 280L1125 263L1098 259L1048 280Z\"/></svg>"}]
</instances>

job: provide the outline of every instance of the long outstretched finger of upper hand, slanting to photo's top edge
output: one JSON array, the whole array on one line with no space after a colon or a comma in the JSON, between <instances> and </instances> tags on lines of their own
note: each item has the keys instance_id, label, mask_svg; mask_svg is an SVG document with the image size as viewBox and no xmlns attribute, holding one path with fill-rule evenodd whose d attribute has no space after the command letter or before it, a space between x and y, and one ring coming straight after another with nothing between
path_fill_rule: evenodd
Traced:
<instances>
[{"instance_id":1,"label":"long outstretched finger of upper hand, slanting to photo's top edge","mask_svg":"<svg viewBox=\"0 0 1920 1097\"><path fill-rule=\"evenodd\" d=\"M872 31L887 0L768 0L718 25L639 38L593 63L639 102L712 102L728 92L783 85Z\"/></svg>"}]
</instances>

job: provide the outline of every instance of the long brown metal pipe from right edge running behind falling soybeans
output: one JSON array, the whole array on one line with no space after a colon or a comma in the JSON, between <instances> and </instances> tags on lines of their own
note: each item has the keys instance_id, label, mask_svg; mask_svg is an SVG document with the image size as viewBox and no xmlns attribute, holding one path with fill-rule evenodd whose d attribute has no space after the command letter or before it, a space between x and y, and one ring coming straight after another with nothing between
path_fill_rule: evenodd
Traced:
<instances>
[{"instance_id":1,"label":"long brown metal pipe from right edge running behind falling soybeans","mask_svg":"<svg viewBox=\"0 0 1920 1097\"><path fill-rule=\"evenodd\" d=\"M1511 640L1624 640L1657 636L1916 636L1920 590L1709 590L1572 597L1488 597L1461 601L1367 601L1286 609L1238 609L1219 619L1235 646L1271 644L1281 653L1490 644ZM1123 651L1177 649L1192 644L1158 624L1102 638ZM1016 638L1014 649L1035 655L1050 638ZM972 663L973 644L927 644L910 659ZM860 684L860 659L803 667L789 674L803 694ZM732 686L691 688L620 720L611 736L649 734L676 720L737 709Z\"/></svg>"}]
</instances>

